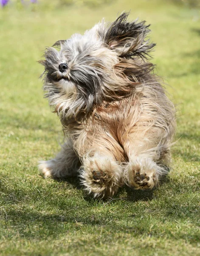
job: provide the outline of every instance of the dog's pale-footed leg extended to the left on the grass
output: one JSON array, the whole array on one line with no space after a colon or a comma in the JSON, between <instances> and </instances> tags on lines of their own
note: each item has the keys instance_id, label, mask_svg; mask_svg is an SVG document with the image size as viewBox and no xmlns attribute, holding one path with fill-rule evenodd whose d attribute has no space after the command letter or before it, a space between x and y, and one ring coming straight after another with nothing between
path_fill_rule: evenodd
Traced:
<instances>
[{"instance_id":1,"label":"dog's pale-footed leg extended to the left on the grass","mask_svg":"<svg viewBox=\"0 0 200 256\"><path fill-rule=\"evenodd\" d=\"M73 151L73 144L69 139L62 145L61 151L54 159L39 162L39 171L45 178L48 177L73 177L81 163Z\"/></svg>"}]
</instances>

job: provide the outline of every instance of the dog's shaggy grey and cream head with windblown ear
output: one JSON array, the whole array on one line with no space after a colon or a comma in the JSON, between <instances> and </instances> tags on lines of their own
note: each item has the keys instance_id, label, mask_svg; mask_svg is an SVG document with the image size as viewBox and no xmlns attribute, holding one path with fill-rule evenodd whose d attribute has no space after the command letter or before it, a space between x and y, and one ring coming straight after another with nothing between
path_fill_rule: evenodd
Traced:
<instances>
[{"instance_id":1,"label":"dog's shaggy grey and cream head with windblown ear","mask_svg":"<svg viewBox=\"0 0 200 256\"><path fill-rule=\"evenodd\" d=\"M127 22L127 13L113 23L96 24L84 35L57 41L46 49L44 90L50 105L65 118L88 113L102 102L126 96L149 70L144 58L154 44L145 41L144 22ZM60 47L56 50L54 47Z\"/></svg>"}]
</instances>

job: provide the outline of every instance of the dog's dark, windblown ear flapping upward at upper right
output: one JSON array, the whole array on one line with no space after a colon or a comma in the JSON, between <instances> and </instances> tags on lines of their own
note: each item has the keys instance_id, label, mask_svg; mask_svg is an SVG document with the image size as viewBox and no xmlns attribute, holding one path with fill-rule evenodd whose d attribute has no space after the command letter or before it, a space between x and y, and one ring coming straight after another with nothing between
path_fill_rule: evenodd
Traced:
<instances>
[{"instance_id":1,"label":"dog's dark, windblown ear flapping upward at upper right","mask_svg":"<svg viewBox=\"0 0 200 256\"><path fill-rule=\"evenodd\" d=\"M150 32L149 25L146 26L145 21L128 22L128 15L129 13L123 13L112 23L101 23L99 36L107 46L119 52L121 57L139 55L148 58L149 51L155 46L149 43L149 39L145 40Z\"/></svg>"}]
</instances>

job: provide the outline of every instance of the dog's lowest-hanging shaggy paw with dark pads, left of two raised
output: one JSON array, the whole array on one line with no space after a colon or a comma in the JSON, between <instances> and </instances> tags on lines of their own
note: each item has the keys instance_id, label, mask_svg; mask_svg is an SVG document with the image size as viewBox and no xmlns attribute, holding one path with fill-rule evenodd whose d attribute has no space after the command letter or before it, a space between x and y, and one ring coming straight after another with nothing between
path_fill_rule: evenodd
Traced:
<instances>
[{"instance_id":1,"label":"dog's lowest-hanging shaggy paw with dark pads, left of two raised","mask_svg":"<svg viewBox=\"0 0 200 256\"><path fill-rule=\"evenodd\" d=\"M93 156L85 154L82 159L82 183L94 197L113 196L122 184L122 169L110 152L98 151Z\"/></svg>"}]
</instances>

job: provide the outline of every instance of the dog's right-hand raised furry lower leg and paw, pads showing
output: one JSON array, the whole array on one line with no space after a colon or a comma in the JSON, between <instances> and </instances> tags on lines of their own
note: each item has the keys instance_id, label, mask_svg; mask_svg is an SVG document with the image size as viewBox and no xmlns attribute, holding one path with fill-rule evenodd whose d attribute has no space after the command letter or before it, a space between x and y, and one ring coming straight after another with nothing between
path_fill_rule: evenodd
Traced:
<instances>
[{"instance_id":1,"label":"dog's right-hand raised furry lower leg and paw, pads showing","mask_svg":"<svg viewBox=\"0 0 200 256\"><path fill-rule=\"evenodd\" d=\"M153 143L147 136L140 137L137 133L132 141L124 144L129 158L124 180L135 189L152 189L158 185L159 178L167 173L170 164L169 146L167 143L159 144L159 140Z\"/></svg>"}]
</instances>

